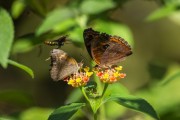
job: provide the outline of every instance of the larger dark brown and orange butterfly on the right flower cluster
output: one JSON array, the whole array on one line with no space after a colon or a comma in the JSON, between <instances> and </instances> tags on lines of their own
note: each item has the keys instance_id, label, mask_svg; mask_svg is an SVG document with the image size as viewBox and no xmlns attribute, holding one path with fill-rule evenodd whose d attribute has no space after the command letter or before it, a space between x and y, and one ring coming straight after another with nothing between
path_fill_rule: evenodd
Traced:
<instances>
[{"instance_id":1,"label":"larger dark brown and orange butterfly on the right flower cluster","mask_svg":"<svg viewBox=\"0 0 180 120\"><path fill-rule=\"evenodd\" d=\"M132 54L130 45L121 37L94 31L92 28L83 33L86 49L100 67L111 67Z\"/></svg>"}]
</instances>

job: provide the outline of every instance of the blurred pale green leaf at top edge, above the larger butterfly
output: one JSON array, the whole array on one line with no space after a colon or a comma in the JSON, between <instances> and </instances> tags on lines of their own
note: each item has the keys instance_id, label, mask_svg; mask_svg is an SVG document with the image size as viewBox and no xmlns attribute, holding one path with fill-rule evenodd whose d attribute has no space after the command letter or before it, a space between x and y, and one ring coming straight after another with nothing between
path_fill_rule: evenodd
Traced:
<instances>
[{"instance_id":1,"label":"blurred pale green leaf at top edge, above the larger butterfly","mask_svg":"<svg viewBox=\"0 0 180 120\"><path fill-rule=\"evenodd\" d=\"M84 0L80 10L85 14L98 14L115 6L116 4L112 0Z\"/></svg>"}]
</instances>

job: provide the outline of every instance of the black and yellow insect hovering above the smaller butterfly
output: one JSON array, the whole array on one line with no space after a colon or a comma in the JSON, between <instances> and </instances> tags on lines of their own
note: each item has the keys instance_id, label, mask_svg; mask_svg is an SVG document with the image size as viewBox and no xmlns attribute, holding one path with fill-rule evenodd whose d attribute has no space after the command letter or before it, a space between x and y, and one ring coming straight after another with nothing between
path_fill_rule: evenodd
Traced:
<instances>
[{"instance_id":1,"label":"black and yellow insect hovering above the smaller butterfly","mask_svg":"<svg viewBox=\"0 0 180 120\"><path fill-rule=\"evenodd\" d=\"M44 44L50 45L50 46L58 46L60 48L61 46L64 45L64 43L67 41L67 35L66 36L61 36L57 40L51 40L51 41L44 41Z\"/></svg>"}]
</instances>

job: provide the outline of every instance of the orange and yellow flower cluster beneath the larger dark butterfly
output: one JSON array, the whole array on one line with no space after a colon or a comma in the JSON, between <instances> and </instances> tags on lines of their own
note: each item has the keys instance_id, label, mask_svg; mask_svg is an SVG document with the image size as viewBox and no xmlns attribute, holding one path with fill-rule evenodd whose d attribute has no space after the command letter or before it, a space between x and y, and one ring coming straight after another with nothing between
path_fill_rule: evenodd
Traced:
<instances>
[{"instance_id":1,"label":"orange and yellow flower cluster beneath the larger dark butterfly","mask_svg":"<svg viewBox=\"0 0 180 120\"><path fill-rule=\"evenodd\" d=\"M99 79L104 83L114 83L119 81L121 78L126 76L125 73L120 73L122 66L102 69L100 67L94 68L94 72L99 77Z\"/></svg>"}]
</instances>

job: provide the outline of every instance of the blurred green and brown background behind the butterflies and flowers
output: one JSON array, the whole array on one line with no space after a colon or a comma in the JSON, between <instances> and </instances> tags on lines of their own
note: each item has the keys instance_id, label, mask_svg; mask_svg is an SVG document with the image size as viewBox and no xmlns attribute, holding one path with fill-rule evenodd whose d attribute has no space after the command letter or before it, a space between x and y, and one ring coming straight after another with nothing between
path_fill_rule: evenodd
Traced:
<instances>
[{"instance_id":1,"label":"blurred green and brown background behind the butterflies and flowers","mask_svg":"<svg viewBox=\"0 0 180 120\"><path fill-rule=\"evenodd\" d=\"M56 47L43 41L69 35L61 49L91 66L83 41L88 27L128 41L133 54L120 63L127 74L121 84L152 104L161 120L179 120L179 8L179 0L1 0L0 120L45 120L79 99L74 88L50 78L45 60ZM151 118L111 103L107 119Z\"/></svg>"}]
</instances>

